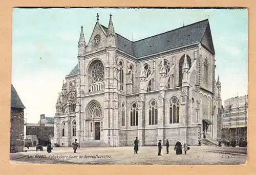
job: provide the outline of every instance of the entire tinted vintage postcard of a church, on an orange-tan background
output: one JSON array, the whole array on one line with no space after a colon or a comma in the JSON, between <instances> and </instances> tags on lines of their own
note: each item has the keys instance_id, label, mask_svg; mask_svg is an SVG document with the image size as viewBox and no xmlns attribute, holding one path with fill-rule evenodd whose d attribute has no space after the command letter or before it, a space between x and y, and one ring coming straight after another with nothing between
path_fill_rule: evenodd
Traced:
<instances>
[{"instance_id":1,"label":"entire tinted vintage postcard of a church, on an orange-tan background","mask_svg":"<svg viewBox=\"0 0 256 175\"><path fill-rule=\"evenodd\" d=\"M247 161L248 10L13 8L13 164Z\"/></svg>"}]
</instances>

